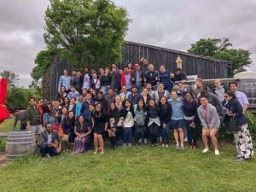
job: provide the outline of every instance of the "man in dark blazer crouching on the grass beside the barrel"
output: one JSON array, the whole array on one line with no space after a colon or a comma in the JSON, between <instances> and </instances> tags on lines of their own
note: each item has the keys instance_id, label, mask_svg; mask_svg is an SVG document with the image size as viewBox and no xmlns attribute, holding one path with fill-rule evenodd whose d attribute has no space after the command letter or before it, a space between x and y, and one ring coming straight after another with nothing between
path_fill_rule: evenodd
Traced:
<instances>
[{"instance_id":1,"label":"man in dark blazer crouching on the grass beside the barrel","mask_svg":"<svg viewBox=\"0 0 256 192\"><path fill-rule=\"evenodd\" d=\"M45 124L45 131L41 132L40 153L42 157L50 157L61 153L61 137L52 130L50 123Z\"/></svg>"}]
</instances>

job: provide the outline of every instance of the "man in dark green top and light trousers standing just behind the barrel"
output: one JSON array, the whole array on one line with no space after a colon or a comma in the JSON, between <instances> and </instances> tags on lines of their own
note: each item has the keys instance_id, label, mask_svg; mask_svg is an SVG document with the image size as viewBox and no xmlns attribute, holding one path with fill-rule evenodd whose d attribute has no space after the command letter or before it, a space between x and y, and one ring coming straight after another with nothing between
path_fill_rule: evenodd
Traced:
<instances>
[{"instance_id":1,"label":"man in dark green top and light trousers standing just behind the barrel","mask_svg":"<svg viewBox=\"0 0 256 192\"><path fill-rule=\"evenodd\" d=\"M36 99L34 97L30 97L29 107L26 108L26 129L39 134L43 131L41 115L36 106Z\"/></svg>"}]
</instances>

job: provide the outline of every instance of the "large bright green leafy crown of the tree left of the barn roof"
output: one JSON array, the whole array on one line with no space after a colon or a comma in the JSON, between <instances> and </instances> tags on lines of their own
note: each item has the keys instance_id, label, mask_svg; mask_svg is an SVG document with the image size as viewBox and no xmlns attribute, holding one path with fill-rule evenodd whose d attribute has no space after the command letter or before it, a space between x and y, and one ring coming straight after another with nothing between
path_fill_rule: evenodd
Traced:
<instances>
[{"instance_id":1,"label":"large bright green leafy crown of the tree left of the barn roof","mask_svg":"<svg viewBox=\"0 0 256 192\"><path fill-rule=\"evenodd\" d=\"M131 20L110 0L49 0L44 41L75 67L104 67L120 61Z\"/></svg>"}]
</instances>

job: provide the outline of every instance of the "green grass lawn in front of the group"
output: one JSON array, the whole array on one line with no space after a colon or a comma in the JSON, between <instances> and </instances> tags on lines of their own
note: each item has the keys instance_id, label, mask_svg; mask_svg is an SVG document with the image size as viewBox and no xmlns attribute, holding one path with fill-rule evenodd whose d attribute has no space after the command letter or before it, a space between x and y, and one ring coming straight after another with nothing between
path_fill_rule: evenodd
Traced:
<instances>
[{"instance_id":1,"label":"green grass lawn in front of the group","mask_svg":"<svg viewBox=\"0 0 256 192\"><path fill-rule=\"evenodd\" d=\"M0 191L256 191L255 157L236 163L235 146L226 143L219 156L201 149L107 147L102 155L23 157L0 166Z\"/></svg>"}]
</instances>

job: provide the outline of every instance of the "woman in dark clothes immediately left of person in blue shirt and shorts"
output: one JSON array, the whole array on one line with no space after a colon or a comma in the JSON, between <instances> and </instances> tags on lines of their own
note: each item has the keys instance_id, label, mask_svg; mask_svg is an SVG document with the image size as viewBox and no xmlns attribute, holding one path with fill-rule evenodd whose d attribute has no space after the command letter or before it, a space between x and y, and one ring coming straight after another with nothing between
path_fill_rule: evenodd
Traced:
<instances>
[{"instance_id":1,"label":"woman in dark clothes immediately left of person in blue shirt and shorts","mask_svg":"<svg viewBox=\"0 0 256 192\"><path fill-rule=\"evenodd\" d=\"M170 144L170 127L172 117L172 107L167 102L166 96L160 97L159 102L160 122L162 146L168 148Z\"/></svg>"}]
</instances>

